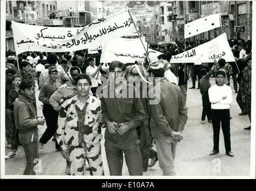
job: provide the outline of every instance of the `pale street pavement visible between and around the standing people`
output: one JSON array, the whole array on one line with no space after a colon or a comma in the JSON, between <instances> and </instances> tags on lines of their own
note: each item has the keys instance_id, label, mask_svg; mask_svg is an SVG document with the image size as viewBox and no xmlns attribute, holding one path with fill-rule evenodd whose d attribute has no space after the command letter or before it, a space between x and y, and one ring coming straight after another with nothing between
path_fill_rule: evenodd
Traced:
<instances>
[{"instance_id":1,"label":"pale street pavement visible between and around the standing people","mask_svg":"<svg viewBox=\"0 0 256 191\"><path fill-rule=\"evenodd\" d=\"M188 88L192 85L191 79L188 81ZM197 82L196 82L197 84ZM214 78L211 78L211 84L215 84ZM231 80L233 90L233 81ZM188 89L187 107L188 121L183 131L184 138L177 144L175 166L179 176L248 176L250 175L250 147L251 131L243 130L248 127L248 115L239 116L241 112L236 103L236 94L233 92L233 103L230 106L232 119L230 120L231 149L234 157L225 155L223 133L220 133L220 153L215 156L209 156L213 147L212 124L207 122L201 124L202 98L200 91L197 89ZM36 97L39 91L36 89ZM37 100L38 116L42 115L42 103ZM171 106L170 106L171 107ZM46 125L38 126L39 137L44 133ZM105 133L103 129L102 134ZM105 175L109 175L108 165L105 155L105 140L102 144L102 159ZM156 150L156 146L154 146ZM5 154L10 149L5 148ZM2 156L3 157L3 156ZM56 152L54 142L49 140L44 145L44 152L39 153L41 159L41 172L38 175L66 175L65 160L61 152ZM135 161L136 162L136 161ZM19 146L16 157L5 160L5 175L22 175L25 170L26 159L22 146ZM85 172L90 175L89 171ZM123 175L129 175L124 161ZM157 162L153 168L149 168L144 174L147 176L161 176L162 171Z\"/></svg>"}]
</instances>

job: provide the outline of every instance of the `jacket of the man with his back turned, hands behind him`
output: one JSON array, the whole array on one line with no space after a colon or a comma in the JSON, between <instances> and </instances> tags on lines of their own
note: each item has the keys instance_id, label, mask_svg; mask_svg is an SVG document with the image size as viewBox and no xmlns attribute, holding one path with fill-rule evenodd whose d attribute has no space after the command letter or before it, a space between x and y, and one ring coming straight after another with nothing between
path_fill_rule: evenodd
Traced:
<instances>
[{"instance_id":1,"label":"jacket of the man with his back turned, hands behind him","mask_svg":"<svg viewBox=\"0 0 256 191\"><path fill-rule=\"evenodd\" d=\"M160 87L159 104L148 102L150 130L156 140L169 136L172 131L184 130L187 122L187 108L179 87L167 82L165 78L160 79L157 87Z\"/></svg>"}]
</instances>

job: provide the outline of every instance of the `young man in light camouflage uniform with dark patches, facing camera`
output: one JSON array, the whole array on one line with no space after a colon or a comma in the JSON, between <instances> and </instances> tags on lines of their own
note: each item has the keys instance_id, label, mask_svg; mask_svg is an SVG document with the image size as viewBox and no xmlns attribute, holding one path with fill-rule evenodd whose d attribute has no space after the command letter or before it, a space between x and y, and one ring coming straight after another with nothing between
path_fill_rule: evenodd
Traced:
<instances>
[{"instance_id":1,"label":"young man in light camouflage uniform with dark patches, facing camera","mask_svg":"<svg viewBox=\"0 0 256 191\"><path fill-rule=\"evenodd\" d=\"M102 140L100 100L89 94L92 82L86 74L75 80L77 95L60 107L57 141L62 156L71 162L71 175L84 175L85 159L91 175L103 175L100 140Z\"/></svg>"}]
</instances>

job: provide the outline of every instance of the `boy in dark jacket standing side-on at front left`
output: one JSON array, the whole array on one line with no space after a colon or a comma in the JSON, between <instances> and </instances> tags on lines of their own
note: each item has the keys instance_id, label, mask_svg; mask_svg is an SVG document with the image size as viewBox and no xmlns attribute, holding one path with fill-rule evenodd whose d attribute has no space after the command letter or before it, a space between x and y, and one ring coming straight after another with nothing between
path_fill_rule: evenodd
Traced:
<instances>
[{"instance_id":1,"label":"boy in dark jacket standing side-on at front left","mask_svg":"<svg viewBox=\"0 0 256 191\"><path fill-rule=\"evenodd\" d=\"M35 175L33 168L38 162L36 159L39 159L37 125L44 125L44 119L36 117L35 106L31 101L35 96L35 83L25 79L20 83L20 92L14 102L14 121L27 161L24 175Z\"/></svg>"}]
</instances>

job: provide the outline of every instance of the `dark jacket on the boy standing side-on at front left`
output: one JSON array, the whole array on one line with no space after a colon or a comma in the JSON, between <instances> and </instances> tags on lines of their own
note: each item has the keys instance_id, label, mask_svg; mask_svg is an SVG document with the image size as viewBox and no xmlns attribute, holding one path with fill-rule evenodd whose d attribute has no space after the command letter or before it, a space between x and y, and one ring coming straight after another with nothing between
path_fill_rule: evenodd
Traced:
<instances>
[{"instance_id":1,"label":"dark jacket on the boy standing side-on at front left","mask_svg":"<svg viewBox=\"0 0 256 191\"><path fill-rule=\"evenodd\" d=\"M35 107L31 100L22 94L14 101L14 121L15 127L21 133L37 130Z\"/></svg>"}]
</instances>

